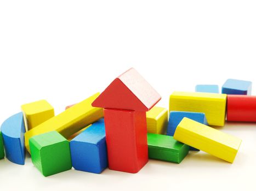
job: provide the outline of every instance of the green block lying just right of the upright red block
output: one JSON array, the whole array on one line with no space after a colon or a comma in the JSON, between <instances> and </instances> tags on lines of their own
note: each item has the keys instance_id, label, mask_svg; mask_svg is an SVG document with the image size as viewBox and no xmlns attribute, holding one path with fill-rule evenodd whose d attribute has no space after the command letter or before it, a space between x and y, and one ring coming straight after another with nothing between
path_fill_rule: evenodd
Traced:
<instances>
[{"instance_id":1,"label":"green block lying just right of the upright red block","mask_svg":"<svg viewBox=\"0 0 256 191\"><path fill-rule=\"evenodd\" d=\"M189 146L173 139L173 136L147 133L149 158L173 163L181 161L189 153Z\"/></svg>"}]
</instances>

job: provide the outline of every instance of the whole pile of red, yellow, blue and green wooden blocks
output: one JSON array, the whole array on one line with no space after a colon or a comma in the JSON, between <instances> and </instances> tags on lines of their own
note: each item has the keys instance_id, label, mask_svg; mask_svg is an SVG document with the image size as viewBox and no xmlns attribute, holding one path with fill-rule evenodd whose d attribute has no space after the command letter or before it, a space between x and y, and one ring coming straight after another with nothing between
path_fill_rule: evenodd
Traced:
<instances>
[{"instance_id":1,"label":"whole pile of red, yellow, blue and green wooden blocks","mask_svg":"<svg viewBox=\"0 0 256 191\"><path fill-rule=\"evenodd\" d=\"M0 159L24 165L26 152L44 176L72 169L136 173L150 159L181 163L204 151L233 163L241 139L215 129L226 121L256 122L252 82L227 80L173 92L169 112L161 96L131 68L102 93L66 107L61 114L45 100L21 106L1 126Z\"/></svg>"}]
</instances>

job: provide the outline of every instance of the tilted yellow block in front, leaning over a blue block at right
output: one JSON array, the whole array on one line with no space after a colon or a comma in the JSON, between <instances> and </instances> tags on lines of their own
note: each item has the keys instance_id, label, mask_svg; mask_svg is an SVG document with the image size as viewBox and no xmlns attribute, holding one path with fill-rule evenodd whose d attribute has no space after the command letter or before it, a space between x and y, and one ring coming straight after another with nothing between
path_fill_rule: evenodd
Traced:
<instances>
[{"instance_id":1,"label":"tilted yellow block in front, leaning over a blue block at right","mask_svg":"<svg viewBox=\"0 0 256 191\"><path fill-rule=\"evenodd\" d=\"M184 117L173 138L233 163L242 140Z\"/></svg>"}]
</instances>

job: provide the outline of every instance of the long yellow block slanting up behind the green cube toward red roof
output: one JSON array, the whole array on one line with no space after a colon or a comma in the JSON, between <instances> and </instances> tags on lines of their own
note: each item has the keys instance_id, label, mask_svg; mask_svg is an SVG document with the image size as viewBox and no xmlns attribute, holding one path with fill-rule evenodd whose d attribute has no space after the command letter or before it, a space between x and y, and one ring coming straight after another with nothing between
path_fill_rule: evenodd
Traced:
<instances>
[{"instance_id":1,"label":"long yellow block slanting up behind the green cube toward red roof","mask_svg":"<svg viewBox=\"0 0 256 191\"><path fill-rule=\"evenodd\" d=\"M99 96L96 93L93 96L83 100L82 102L72 106L59 115L50 118L49 120L39 124L37 127L25 133L25 146L30 152L29 139L32 136L47 133L53 130L59 132L62 136L68 139L72 134L78 132L89 124L103 118L103 109L94 108L93 101Z\"/></svg>"}]
</instances>

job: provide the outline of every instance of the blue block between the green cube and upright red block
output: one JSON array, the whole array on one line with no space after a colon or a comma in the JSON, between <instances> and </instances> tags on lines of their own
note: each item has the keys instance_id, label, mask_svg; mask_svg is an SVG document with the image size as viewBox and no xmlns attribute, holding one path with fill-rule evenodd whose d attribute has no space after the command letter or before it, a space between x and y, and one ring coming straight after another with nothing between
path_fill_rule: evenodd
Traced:
<instances>
[{"instance_id":1,"label":"blue block between the green cube and upright red block","mask_svg":"<svg viewBox=\"0 0 256 191\"><path fill-rule=\"evenodd\" d=\"M101 119L70 141L73 168L100 174L107 168L105 124Z\"/></svg>"}]
</instances>

